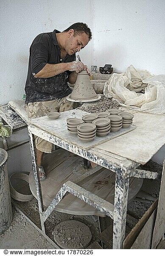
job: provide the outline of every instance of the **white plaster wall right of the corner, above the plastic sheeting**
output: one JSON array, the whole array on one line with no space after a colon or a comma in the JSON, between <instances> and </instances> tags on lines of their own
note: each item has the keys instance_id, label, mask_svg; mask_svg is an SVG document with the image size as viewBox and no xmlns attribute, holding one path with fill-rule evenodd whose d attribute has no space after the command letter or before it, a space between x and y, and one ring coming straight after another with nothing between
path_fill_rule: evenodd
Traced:
<instances>
[{"instance_id":1,"label":"white plaster wall right of the corner, above the plastic sheeting","mask_svg":"<svg viewBox=\"0 0 165 256\"><path fill-rule=\"evenodd\" d=\"M165 74L165 1L95 0L93 63Z\"/></svg>"}]
</instances>

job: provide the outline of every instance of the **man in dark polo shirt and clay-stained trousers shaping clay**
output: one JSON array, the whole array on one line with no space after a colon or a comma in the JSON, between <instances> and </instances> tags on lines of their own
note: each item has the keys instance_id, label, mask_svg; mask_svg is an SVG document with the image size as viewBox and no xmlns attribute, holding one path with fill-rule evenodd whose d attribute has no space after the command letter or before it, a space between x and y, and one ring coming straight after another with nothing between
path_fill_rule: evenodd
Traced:
<instances>
[{"instance_id":1,"label":"man in dark polo shirt and clay-stained trousers shaping clay","mask_svg":"<svg viewBox=\"0 0 165 256\"><path fill-rule=\"evenodd\" d=\"M92 38L85 23L74 23L63 32L54 30L38 35L30 47L28 75L25 84L25 109L29 118L45 116L75 108L66 97L72 92L82 70L89 70L81 61L76 61L76 52L83 49ZM53 145L39 137L35 138L36 160L40 179L46 177L42 166L44 152L51 153Z\"/></svg>"}]
</instances>

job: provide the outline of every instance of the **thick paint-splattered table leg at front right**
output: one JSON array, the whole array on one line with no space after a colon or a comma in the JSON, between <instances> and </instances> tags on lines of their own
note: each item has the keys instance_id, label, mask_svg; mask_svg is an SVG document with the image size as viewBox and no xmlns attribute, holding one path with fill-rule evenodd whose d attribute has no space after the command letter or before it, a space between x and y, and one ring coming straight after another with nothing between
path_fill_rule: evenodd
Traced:
<instances>
[{"instance_id":1,"label":"thick paint-splattered table leg at front right","mask_svg":"<svg viewBox=\"0 0 165 256\"><path fill-rule=\"evenodd\" d=\"M129 177L116 173L113 218L113 249L122 249L126 231Z\"/></svg>"}]
</instances>

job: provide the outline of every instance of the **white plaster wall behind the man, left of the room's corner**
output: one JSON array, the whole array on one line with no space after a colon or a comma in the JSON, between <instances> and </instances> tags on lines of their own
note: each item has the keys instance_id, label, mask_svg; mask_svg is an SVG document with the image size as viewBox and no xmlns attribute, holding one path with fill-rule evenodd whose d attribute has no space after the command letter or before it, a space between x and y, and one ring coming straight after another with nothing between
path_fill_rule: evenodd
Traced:
<instances>
[{"instance_id":1,"label":"white plaster wall behind the man, left of the room's corner","mask_svg":"<svg viewBox=\"0 0 165 256\"><path fill-rule=\"evenodd\" d=\"M89 0L0 1L0 104L22 99L29 48L36 35L62 31L75 22L91 28L92 11ZM82 61L90 59L91 45L82 50Z\"/></svg>"}]
</instances>

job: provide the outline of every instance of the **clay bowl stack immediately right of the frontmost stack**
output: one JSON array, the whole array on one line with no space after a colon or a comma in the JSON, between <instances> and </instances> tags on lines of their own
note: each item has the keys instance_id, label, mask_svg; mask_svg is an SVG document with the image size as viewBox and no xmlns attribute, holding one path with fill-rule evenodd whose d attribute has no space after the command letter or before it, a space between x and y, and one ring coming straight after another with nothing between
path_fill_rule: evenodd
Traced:
<instances>
[{"instance_id":1,"label":"clay bowl stack immediately right of the frontmost stack","mask_svg":"<svg viewBox=\"0 0 165 256\"><path fill-rule=\"evenodd\" d=\"M110 119L106 117L95 119L92 124L96 125L97 136L106 136L111 131Z\"/></svg>"}]
</instances>

